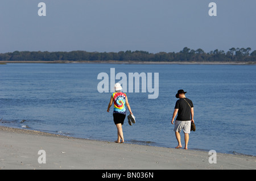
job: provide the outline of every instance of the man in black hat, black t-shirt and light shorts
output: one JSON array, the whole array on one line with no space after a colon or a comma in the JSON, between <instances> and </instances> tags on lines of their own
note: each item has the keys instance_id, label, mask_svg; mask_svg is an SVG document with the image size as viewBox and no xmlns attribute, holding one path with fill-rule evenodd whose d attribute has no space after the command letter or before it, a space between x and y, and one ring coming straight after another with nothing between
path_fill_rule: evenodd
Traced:
<instances>
[{"instance_id":1,"label":"man in black hat, black t-shirt and light shorts","mask_svg":"<svg viewBox=\"0 0 256 181\"><path fill-rule=\"evenodd\" d=\"M184 149L188 149L188 140L189 140L189 133L191 129L191 123L194 123L194 106L192 100L185 97L184 90L178 90L176 94L176 98L179 98L175 104L174 113L172 115L172 124L174 124L175 116L175 136L178 142L176 148L182 148L181 141L180 141L180 132L183 130L184 132L184 139L185 139L185 147Z\"/></svg>"}]
</instances>

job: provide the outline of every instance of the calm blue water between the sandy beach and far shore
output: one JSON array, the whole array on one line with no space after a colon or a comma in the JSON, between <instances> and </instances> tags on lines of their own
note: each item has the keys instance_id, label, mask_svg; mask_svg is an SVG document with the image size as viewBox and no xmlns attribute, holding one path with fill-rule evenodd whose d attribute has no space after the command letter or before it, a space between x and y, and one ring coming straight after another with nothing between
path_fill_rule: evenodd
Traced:
<instances>
[{"instance_id":1,"label":"calm blue water between the sandy beach and far shore","mask_svg":"<svg viewBox=\"0 0 256 181\"><path fill-rule=\"evenodd\" d=\"M175 94L184 89L195 110L189 149L256 155L255 65L0 65L0 125L114 141L117 130L106 112L111 93L97 90L97 75L110 76L110 68L127 78L135 72L159 73L157 99L148 99L148 92L127 92L137 123L125 120L126 142L174 148L170 121ZM184 145L183 133L181 140Z\"/></svg>"}]
</instances>

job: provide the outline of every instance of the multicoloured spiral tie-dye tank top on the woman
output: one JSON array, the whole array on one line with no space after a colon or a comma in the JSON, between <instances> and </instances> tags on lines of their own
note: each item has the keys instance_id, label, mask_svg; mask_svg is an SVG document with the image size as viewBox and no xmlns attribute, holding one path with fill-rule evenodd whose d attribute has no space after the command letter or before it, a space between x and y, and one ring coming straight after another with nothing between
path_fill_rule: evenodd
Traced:
<instances>
[{"instance_id":1,"label":"multicoloured spiral tie-dye tank top on the woman","mask_svg":"<svg viewBox=\"0 0 256 181\"><path fill-rule=\"evenodd\" d=\"M125 107L126 94L123 92L114 92L112 96L114 98L113 113L122 113L126 115L126 107Z\"/></svg>"}]
</instances>

